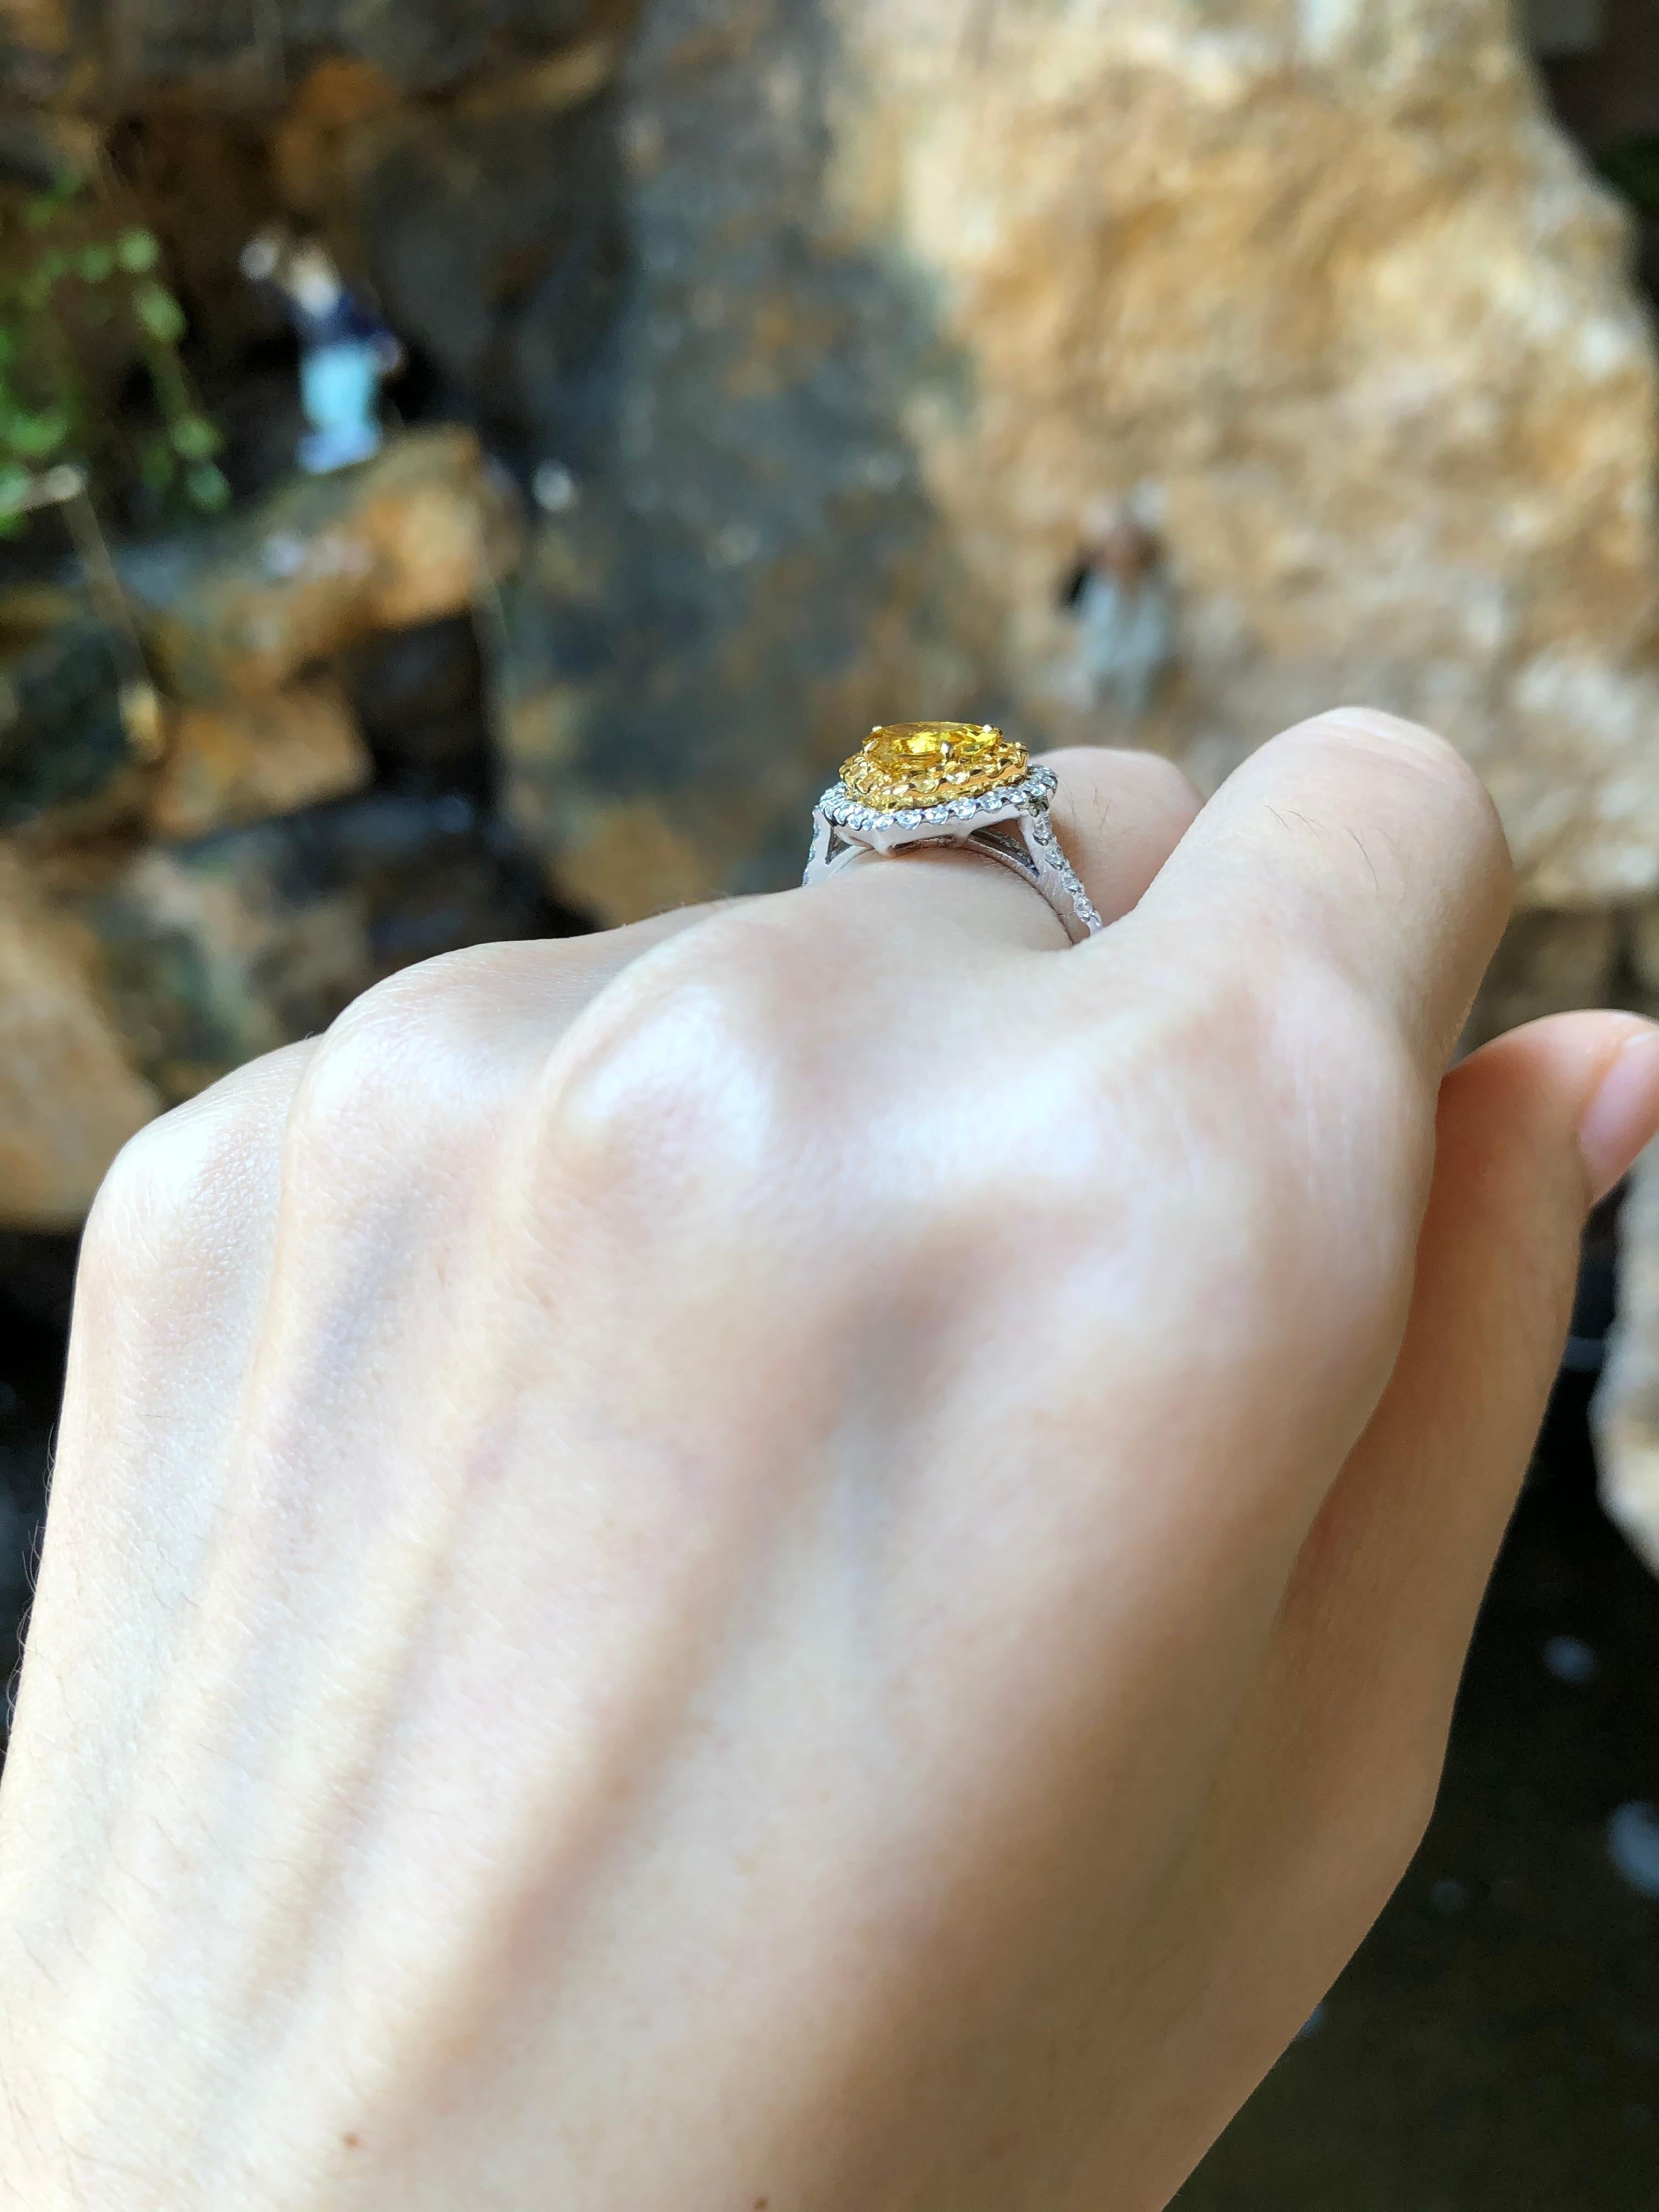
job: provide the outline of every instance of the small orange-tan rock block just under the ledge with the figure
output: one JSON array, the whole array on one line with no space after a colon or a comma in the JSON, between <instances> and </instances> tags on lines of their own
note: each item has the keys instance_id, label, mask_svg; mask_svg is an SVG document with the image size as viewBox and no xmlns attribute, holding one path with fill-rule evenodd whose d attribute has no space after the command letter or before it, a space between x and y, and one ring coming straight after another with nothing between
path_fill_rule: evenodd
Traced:
<instances>
[{"instance_id":1,"label":"small orange-tan rock block just under the ledge with the figure","mask_svg":"<svg viewBox=\"0 0 1659 2212\"><path fill-rule=\"evenodd\" d=\"M268 699L181 708L148 799L161 838L239 830L323 799L365 790L374 761L332 681L294 684Z\"/></svg>"}]
</instances>

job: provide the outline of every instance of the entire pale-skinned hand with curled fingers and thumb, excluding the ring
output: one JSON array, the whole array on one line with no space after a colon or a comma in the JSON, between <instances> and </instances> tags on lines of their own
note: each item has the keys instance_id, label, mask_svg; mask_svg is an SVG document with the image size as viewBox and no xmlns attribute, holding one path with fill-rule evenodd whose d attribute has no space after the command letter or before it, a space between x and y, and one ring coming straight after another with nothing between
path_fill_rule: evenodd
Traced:
<instances>
[{"instance_id":1,"label":"entire pale-skinned hand with curled fingers and thumb, excluding the ring","mask_svg":"<svg viewBox=\"0 0 1659 2212\"><path fill-rule=\"evenodd\" d=\"M91 1225L0 2203L1152 2212L1427 1818L1659 1033L1447 1075L1491 807L1203 810L374 991Z\"/></svg>"}]
</instances>

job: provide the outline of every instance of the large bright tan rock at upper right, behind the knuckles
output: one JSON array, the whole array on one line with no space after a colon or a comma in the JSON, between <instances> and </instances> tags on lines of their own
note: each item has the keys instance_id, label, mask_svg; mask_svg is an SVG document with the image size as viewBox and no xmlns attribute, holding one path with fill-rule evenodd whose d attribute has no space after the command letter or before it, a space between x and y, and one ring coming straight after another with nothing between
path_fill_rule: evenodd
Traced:
<instances>
[{"instance_id":1,"label":"large bright tan rock at upper right, behind the knuckles","mask_svg":"<svg viewBox=\"0 0 1659 2212\"><path fill-rule=\"evenodd\" d=\"M1079 489L1148 487L1186 606L1157 737L1203 781L1363 697L1475 761L1531 902L1659 885L1652 341L1504 0L845 18L836 190L973 361L922 460L1026 712Z\"/></svg>"}]
</instances>

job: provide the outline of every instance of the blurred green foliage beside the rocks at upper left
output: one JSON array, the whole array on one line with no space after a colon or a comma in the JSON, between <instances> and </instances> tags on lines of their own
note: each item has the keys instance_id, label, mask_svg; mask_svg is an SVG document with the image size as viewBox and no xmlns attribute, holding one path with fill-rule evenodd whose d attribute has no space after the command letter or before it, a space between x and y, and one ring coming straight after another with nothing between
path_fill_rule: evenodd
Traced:
<instances>
[{"instance_id":1,"label":"blurred green foliage beside the rocks at upper left","mask_svg":"<svg viewBox=\"0 0 1659 2212\"><path fill-rule=\"evenodd\" d=\"M64 465L104 498L137 482L197 513L230 502L223 438L179 361L186 327L161 241L80 179L0 208L0 535L24 529L42 473ZM111 405L135 361L153 429Z\"/></svg>"}]
</instances>

